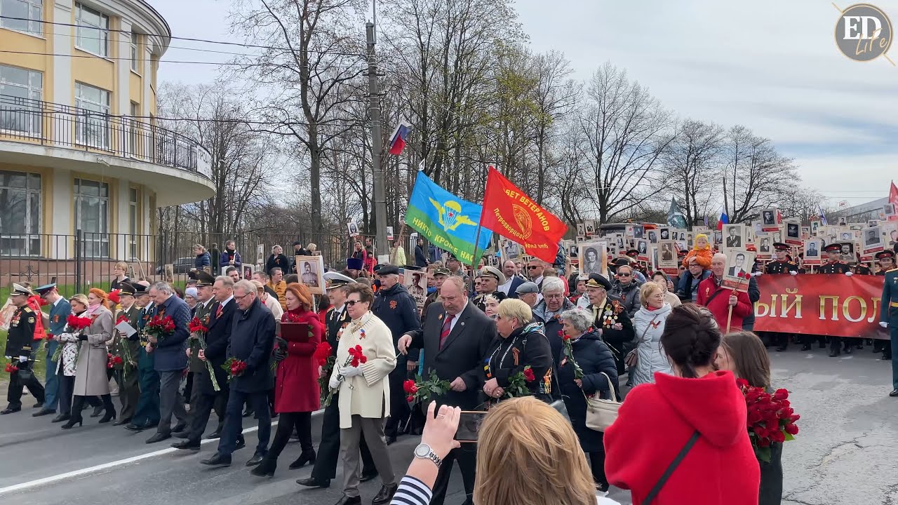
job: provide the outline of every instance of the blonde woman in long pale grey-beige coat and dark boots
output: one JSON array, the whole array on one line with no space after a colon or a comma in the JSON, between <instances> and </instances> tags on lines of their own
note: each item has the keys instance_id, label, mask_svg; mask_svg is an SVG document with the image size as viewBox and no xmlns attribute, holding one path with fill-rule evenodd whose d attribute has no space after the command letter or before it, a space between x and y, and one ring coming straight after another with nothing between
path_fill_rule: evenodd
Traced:
<instances>
[{"instance_id":1,"label":"blonde woman in long pale grey-beige coat and dark boots","mask_svg":"<svg viewBox=\"0 0 898 505\"><path fill-rule=\"evenodd\" d=\"M101 423L115 419L115 406L112 404L110 380L106 371L109 362L106 343L112 340L112 313L106 308L108 299L100 288L91 288L87 293L87 310L83 316L90 317L92 323L78 335L81 343L75 365L75 399L63 430L70 430L75 424L82 425L81 408L87 396L101 397L106 410Z\"/></svg>"}]
</instances>

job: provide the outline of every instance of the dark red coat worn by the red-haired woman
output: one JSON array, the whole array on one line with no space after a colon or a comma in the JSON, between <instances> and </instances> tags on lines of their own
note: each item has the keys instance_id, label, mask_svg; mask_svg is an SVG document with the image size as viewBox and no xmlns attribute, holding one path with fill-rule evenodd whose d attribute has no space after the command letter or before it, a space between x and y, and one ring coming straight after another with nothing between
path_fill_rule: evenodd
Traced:
<instances>
[{"instance_id":1,"label":"dark red coat worn by the red-haired woman","mask_svg":"<svg viewBox=\"0 0 898 505\"><path fill-rule=\"evenodd\" d=\"M318 387L318 363L313 359L321 342L323 325L311 311L287 311L281 323L306 323L312 326L312 338L305 342L287 341L286 358L277 364L275 412L315 412L321 408Z\"/></svg>"}]
</instances>

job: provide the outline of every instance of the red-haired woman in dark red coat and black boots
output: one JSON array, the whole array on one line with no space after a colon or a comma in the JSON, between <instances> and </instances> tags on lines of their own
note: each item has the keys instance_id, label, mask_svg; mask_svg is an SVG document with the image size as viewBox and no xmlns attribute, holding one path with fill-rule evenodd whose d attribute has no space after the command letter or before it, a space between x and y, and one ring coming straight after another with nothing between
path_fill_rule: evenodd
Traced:
<instances>
[{"instance_id":1,"label":"red-haired woman in dark red coat and black boots","mask_svg":"<svg viewBox=\"0 0 898 505\"><path fill-rule=\"evenodd\" d=\"M287 284L284 293L286 312L281 316L281 333L283 323L308 324L308 337L300 336L296 341L293 335L286 335L280 340L275 355L280 359L277 364L275 382L275 412L279 414L277 432L271 441L269 454L261 463L251 470L253 475L275 474L277 456L280 456L294 429L299 433L299 444L303 453L290 464L290 468L299 468L315 461L315 450L312 447L312 412L321 406L318 387L318 364L313 359L315 348L321 342L323 325L314 311L312 294L304 284Z\"/></svg>"}]
</instances>

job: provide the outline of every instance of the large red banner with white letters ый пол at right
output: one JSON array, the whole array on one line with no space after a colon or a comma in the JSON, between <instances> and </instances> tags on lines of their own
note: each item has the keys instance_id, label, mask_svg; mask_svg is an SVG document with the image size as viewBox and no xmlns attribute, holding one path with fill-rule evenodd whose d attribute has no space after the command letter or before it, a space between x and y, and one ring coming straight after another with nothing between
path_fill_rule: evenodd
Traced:
<instances>
[{"instance_id":1,"label":"large red banner with white letters \u044b\u0439 \u043f\u043e\u043b at right","mask_svg":"<svg viewBox=\"0 0 898 505\"><path fill-rule=\"evenodd\" d=\"M879 326L885 278L840 274L762 275L755 332L888 339Z\"/></svg>"}]
</instances>

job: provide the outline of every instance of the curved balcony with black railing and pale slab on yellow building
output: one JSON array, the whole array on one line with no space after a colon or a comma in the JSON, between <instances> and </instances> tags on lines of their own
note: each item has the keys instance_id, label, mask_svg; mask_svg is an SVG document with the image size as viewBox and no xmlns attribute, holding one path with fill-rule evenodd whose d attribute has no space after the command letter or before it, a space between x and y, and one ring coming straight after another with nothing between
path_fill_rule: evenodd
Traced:
<instances>
[{"instance_id":1,"label":"curved balcony with black railing and pale slab on yellow building","mask_svg":"<svg viewBox=\"0 0 898 505\"><path fill-rule=\"evenodd\" d=\"M127 178L156 206L215 194L210 156L193 139L153 124L0 94L0 162Z\"/></svg>"}]
</instances>

